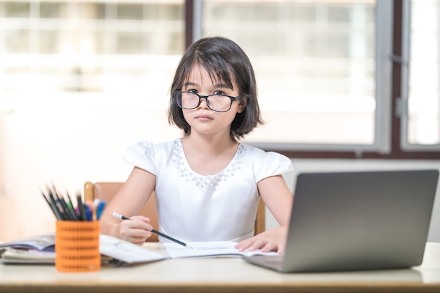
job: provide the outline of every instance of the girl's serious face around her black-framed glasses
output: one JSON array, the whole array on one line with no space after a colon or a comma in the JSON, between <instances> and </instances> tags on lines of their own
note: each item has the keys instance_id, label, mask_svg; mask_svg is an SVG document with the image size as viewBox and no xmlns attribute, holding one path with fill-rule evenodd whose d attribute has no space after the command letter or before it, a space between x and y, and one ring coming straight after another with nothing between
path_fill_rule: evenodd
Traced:
<instances>
[{"instance_id":1,"label":"girl's serious face around her black-framed glasses","mask_svg":"<svg viewBox=\"0 0 440 293\"><path fill-rule=\"evenodd\" d=\"M231 89L219 80L212 80L204 67L194 65L186 84L183 84L182 91L198 93L201 96L212 94L224 94L236 97L240 93L237 86ZM215 112L208 108L207 101L202 98L200 105L193 110L182 109L183 117L191 126L191 134L195 131L200 134L218 134L224 132L229 137L229 131L235 115L245 109L246 97L233 101L228 112Z\"/></svg>"}]
</instances>

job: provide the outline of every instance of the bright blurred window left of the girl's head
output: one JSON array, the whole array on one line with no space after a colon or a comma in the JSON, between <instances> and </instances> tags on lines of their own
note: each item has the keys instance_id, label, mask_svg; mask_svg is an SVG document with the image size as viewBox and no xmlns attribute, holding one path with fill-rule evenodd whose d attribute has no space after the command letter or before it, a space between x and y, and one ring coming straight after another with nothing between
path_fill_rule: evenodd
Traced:
<instances>
[{"instance_id":1,"label":"bright blurred window left of the girl's head","mask_svg":"<svg viewBox=\"0 0 440 293\"><path fill-rule=\"evenodd\" d=\"M163 96L183 41L183 1L1 1L0 93Z\"/></svg>"}]
</instances>

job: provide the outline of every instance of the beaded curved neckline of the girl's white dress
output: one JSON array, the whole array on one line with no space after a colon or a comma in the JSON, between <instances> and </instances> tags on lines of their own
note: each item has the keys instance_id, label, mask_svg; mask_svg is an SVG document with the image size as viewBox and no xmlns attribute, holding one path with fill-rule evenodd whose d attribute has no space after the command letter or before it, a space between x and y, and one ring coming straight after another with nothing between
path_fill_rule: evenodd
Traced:
<instances>
[{"instance_id":1,"label":"beaded curved neckline of the girl's white dress","mask_svg":"<svg viewBox=\"0 0 440 293\"><path fill-rule=\"evenodd\" d=\"M172 148L172 160L176 164L179 177L184 178L186 182L193 182L194 185L199 188L215 187L223 181L228 181L228 178L238 174L242 167L242 158L246 155L246 146L239 144L237 152L229 162L225 169L221 170L215 175L200 175L190 168L186 161L185 153L183 152L183 146L181 139L176 139Z\"/></svg>"}]
</instances>

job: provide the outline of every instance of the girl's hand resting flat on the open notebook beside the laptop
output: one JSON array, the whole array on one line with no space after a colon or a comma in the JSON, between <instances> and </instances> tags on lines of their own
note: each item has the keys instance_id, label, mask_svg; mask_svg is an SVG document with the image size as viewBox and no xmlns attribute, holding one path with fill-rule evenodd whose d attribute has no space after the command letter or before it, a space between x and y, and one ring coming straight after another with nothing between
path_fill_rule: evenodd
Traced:
<instances>
[{"instance_id":1,"label":"girl's hand resting flat on the open notebook beside the laptop","mask_svg":"<svg viewBox=\"0 0 440 293\"><path fill-rule=\"evenodd\" d=\"M254 237L242 240L235 245L240 252L249 249L251 252L260 249L261 252L278 252L283 254L285 252L285 242L287 240L287 226L280 226L271 230L259 233Z\"/></svg>"}]
</instances>

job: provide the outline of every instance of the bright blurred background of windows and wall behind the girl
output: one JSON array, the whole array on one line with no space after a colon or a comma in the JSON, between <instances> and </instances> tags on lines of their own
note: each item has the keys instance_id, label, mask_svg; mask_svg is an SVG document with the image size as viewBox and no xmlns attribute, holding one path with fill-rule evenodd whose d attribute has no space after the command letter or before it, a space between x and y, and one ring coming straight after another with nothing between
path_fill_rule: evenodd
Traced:
<instances>
[{"instance_id":1,"label":"bright blurred background of windows and wall behind the girl","mask_svg":"<svg viewBox=\"0 0 440 293\"><path fill-rule=\"evenodd\" d=\"M435 0L0 1L0 240L54 230L40 188L124 181L131 143L181 136L169 86L205 36L250 57L266 124L244 142L291 157L292 188L299 171L440 169L439 16Z\"/></svg>"}]
</instances>

